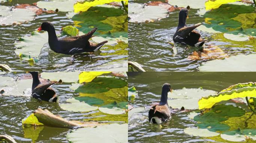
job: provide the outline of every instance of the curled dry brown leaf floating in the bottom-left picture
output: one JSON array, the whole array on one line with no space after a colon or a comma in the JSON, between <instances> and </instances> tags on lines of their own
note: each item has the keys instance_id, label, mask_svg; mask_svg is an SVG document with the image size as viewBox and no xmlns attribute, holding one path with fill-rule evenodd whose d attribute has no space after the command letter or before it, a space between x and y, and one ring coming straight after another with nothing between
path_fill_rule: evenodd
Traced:
<instances>
[{"instance_id":1,"label":"curled dry brown leaf floating in the bottom-left picture","mask_svg":"<svg viewBox=\"0 0 256 143\"><path fill-rule=\"evenodd\" d=\"M47 109L36 109L34 111L34 116L36 116L37 120L44 125L50 127L61 127L61 128L73 128L73 127L95 127L100 125L97 122L76 122L76 121L68 121L60 116L52 114Z\"/></svg>"}]
</instances>

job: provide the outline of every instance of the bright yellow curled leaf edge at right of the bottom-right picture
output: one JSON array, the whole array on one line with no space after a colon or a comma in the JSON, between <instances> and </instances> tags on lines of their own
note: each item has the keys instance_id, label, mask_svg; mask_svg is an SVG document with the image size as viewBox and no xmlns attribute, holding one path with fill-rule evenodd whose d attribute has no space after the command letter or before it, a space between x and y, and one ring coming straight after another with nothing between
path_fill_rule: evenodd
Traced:
<instances>
[{"instance_id":1,"label":"bright yellow curled leaf edge at right of the bottom-right picture","mask_svg":"<svg viewBox=\"0 0 256 143\"><path fill-rule=\"evenodd\" d=\"M238 83L222 90L217 95L203 97L198 101L199 109L211 108L220 101L232 98L256 97L256 83Z\"/></svg>"}]
</instances>

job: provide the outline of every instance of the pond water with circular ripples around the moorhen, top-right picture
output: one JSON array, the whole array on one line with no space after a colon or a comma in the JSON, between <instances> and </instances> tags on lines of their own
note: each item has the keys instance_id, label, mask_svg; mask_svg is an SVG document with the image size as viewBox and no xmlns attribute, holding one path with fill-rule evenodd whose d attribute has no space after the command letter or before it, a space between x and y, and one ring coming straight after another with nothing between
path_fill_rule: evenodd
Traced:
<instances>
[{"instance_id":1,"label":"pond water with circular ripples around the moorhen, top-right picture","mask_svg":"<svg viewBox=\"0 0 256 143\"><path fill-rule=\"evenodd\" d=\"M152 0L155 1L155 0ZM164 0L161 0L164 2ZM132 3L149 1L133 0ZM197 14L198 9L189 10L188 26L205 22L204 17ZM255 12L253 12L255 13ZM219 15L221 18L222 16ZM198 66L208 60L188 60L188 56L196 48L176 45L177 54L173 54L173 35L179 20L179 10L171 12L167 18L149 23L128 23L129 61L135 61L146 71L198 71ZM212 34L200 32L201 38L207 39L206 45L217 45L227 55L255 53L255 39L249 41L232 41L225 39L223 33ZM221 36L222 35L222 36ZM211 60L211 59L210 59Z\"/></svg>"}]
</instances>

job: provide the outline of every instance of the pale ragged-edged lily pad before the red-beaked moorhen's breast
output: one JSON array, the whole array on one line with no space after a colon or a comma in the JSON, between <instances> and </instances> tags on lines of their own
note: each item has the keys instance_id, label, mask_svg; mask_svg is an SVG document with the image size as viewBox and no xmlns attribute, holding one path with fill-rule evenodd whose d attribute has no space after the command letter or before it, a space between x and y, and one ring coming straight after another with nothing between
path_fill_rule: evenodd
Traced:
<instances>
[{"instance_id":1,"label":"pale ragged-edged lily pad before the red-beaked moorhen's breast","mask_svg":"<svg viewBox=\"0 0 256 143\"><path fill-rule=\"evenodd\" d=\"M15 53L24 60L38 58L41 49L48 42L48 33L32 32L31 36L23 36L18 42L15 42Z\"/></svg>"}]
</instances>

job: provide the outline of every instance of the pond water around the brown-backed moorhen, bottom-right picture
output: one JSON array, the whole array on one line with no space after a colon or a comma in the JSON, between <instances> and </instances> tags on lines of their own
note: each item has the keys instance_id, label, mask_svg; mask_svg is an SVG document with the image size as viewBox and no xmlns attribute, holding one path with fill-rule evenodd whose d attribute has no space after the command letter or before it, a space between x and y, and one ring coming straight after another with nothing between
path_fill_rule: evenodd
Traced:
<instances>
[{"instance_id":1,"label":"pond water around the brown-backed moorhen, bottom-right picture","mask_svg":"<svg viewBox=\"0 0 256 143\"><path fill-rule=\"evenodd\" d=\"M193 124L196 123L195 121L189 119L189 112L173 112L171 115L171 120L159 126L149 123L147 117L149 111L148 108L153 102L160 101L162 85L164 83L170 83L171 88L174 90L182 89L183 87L202 87L203 89L209 89L219 92L220 90L237 83L255 82L256 77L254 75L255 73L248 72L129 72L128 86L135 86L138 91L138 96L134 99L134 101L129 101L128 103L135 108L146 107L146 110L135 113L129 119L129 143L216 142L205 137L195 137L184 133L184 128L192 127ZM225 101L223 102L223 104L240 106L249 111L245 104L235 104L231 101ZM231 143L226 140L222 140L220 142Z\"/></svg>"}]
</instances>

